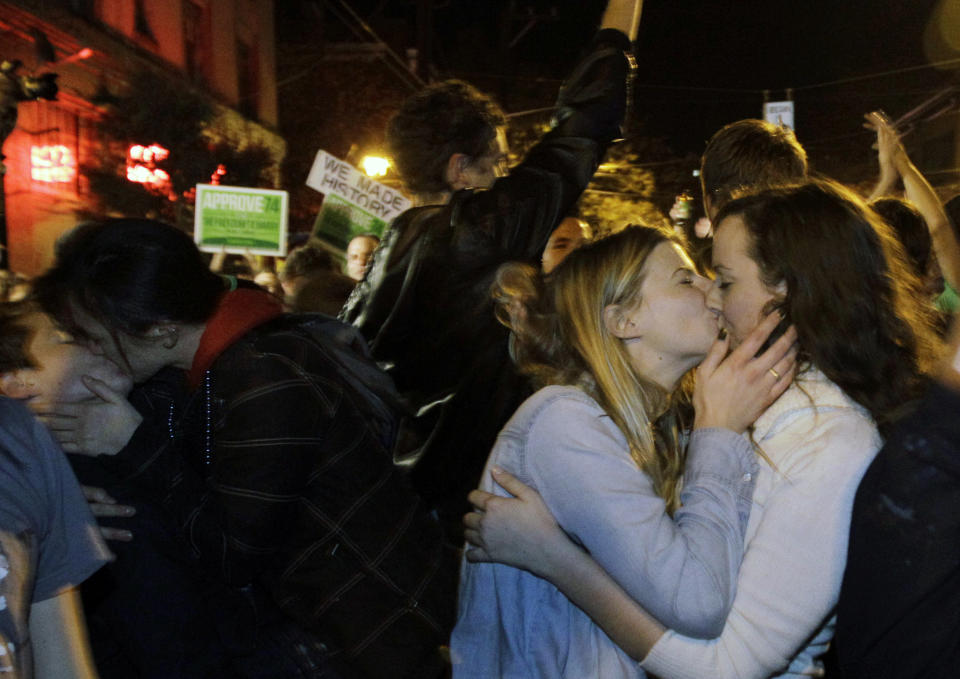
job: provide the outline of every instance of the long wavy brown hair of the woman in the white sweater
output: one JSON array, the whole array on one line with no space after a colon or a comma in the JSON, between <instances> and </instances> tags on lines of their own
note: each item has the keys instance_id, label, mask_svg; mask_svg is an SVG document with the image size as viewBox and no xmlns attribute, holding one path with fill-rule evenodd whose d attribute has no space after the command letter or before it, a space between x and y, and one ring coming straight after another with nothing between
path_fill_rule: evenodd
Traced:
<instances>
[{"instance_id":1,"label":"long wavy brown hair of the woman in the white sweater","mask_svg":"<svg viewBox=\"0 0 960 679\"><path fill-rule=\"evenodd\" d=\"M893 230L852 191L823 180L727 203L718 230L743 219L749 256L816 366L881 429L919 397L940 353L934 315Z\"/></svg>"}]
</instances>

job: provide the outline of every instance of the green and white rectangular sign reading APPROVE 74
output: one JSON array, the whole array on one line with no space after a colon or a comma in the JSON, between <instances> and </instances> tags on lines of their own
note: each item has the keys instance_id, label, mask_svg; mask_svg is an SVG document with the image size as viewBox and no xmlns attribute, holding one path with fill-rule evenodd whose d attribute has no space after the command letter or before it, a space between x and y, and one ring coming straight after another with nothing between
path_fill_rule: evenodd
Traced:
<instances>
[{"instance_id":1,"label":"green and white rectangular sign reading APPROVE 74","mask_svg":"<svg viewBox=\"0 0 960 679\"><path fill-rule=\"evenodd\" d=\"M197 184L193 239L201 250L287 254L287 192Z\"/></svg>"}]
</instances>

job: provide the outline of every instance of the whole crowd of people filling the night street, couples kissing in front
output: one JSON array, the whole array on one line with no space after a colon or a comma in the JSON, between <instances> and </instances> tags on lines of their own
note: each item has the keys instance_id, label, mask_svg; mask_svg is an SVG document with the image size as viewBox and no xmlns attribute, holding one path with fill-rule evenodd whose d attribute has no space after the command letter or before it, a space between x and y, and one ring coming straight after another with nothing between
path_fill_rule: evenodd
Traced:
<instances>
[{"instance_id":1,"label":"whole crowd of people filling the night street, couples kissing in front","mask_svg":"<svg viewBox=\"0 0 960 679\"><path fill-rule=\"evenodd\" d=\"M592 233L640 5L515 167L410 97L344 271L113 218L4 278L0 674L956 675L957 204L882 113L867 197L742 120L701 219Z\"/></svg>"}]
</instances>

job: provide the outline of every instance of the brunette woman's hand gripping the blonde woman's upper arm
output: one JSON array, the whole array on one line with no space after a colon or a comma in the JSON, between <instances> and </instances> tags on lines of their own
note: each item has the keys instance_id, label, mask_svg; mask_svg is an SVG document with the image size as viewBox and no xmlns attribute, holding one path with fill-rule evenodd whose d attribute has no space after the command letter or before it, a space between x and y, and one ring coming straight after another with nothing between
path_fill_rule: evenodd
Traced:
<instances>
[{"instance_id":1,"label":"brunette woman's hand gripping the blonde woman's upper arm","mask_svg":"<svg viewBox=\"0 0 960 679\"><path fill-rule=\"evenodd\" d=\"M463 517L467 561L493 561L548 578L573 543L557 525L540 494L503 470L493 479L514 497L482 490L467 496L474 511Z\"/></svg>"}]
</instances>

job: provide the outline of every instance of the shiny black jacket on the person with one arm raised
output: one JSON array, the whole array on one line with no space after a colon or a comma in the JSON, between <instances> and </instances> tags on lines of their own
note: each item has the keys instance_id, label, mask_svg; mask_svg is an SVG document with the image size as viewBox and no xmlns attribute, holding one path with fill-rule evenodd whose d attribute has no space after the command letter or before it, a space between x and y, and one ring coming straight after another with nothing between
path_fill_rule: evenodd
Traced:
<instances>
[{"instance_id":1,"label":"shiny black jacket on the person with one arm raised","mask_svg":"<svg viewBox=\"0 0 960 679\"><path fill-rule=\"evenodd\" d=\"M426 443L414 485L448 527L459 526L497 433L530 393L511 364L490 286L506 262L539 262L619 135L629 49L619 31L598 34L560 91L554 128L509 176L398 217L341 314L419 412Z\"/></svg>"}]
</instances>

